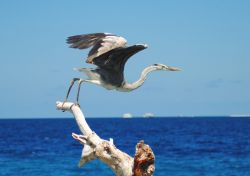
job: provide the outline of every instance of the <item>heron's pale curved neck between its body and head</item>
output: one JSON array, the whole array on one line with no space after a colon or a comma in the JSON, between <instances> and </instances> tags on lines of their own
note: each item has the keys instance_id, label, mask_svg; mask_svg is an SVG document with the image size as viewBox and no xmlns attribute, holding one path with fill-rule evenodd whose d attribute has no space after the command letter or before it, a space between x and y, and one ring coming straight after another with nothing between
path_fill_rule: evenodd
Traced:
<instances>
[{"instance_id":1,"label":"heron's pale curved neck between its body and head","mask_svg":"<svg viewBox=\"0 0 250 176\"><path fill-rule=\"evenodd\" d=\"M133 82L133 83L124 83L123 85L123 91L132 91L134 89L137 89L139 88L143 83L144 81L146 80L147 78L147 75L152 72L152 71L155 71L155 70L158 70L155 66L151 65L151 66L148 66L146 67L142 73L141 73L141 76L140 78Z\"/></svg>"}]
</instances>

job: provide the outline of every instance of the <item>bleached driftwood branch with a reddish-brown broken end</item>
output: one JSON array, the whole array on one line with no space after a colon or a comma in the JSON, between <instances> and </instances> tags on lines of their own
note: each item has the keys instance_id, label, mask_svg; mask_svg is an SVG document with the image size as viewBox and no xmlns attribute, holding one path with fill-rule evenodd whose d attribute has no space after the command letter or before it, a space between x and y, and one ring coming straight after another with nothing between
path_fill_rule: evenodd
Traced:
<instances>
[{"instance_id":1,"label":"bleached driftwood branch with a reddish-brown broken end","mask_svg":"<svg viewBox=\"0 0 250 176\"><path fill-rule=\"evenodd\" d=\"M135 157L120 151L113 144L113 140L101 139L88 126L80 107L71 102L57 102L57 109L70 111L82 133L72 133L72 137L84 145L79 166L88 161L100 159L107 164L117 176L150 176L154 172L155 156L151 148L140 141L136 145Z\"/></svg>"}]
</instances>

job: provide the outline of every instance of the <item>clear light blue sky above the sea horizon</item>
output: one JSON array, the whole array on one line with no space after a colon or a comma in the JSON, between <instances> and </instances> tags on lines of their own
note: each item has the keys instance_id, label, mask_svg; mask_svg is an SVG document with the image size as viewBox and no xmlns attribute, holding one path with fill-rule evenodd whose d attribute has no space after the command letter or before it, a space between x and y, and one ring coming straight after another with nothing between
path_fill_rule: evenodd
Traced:
<instances>
[{"instance_id":1,"label":"clear light blue sky above the sea horizon","mask_svg":"<svg viewBox=\"0 0 250 176\"><path fill-rule=\"evenodd\" d=\"M130 93L85 84L87 117L250 114L249 9L247 0L0 1L0 118L70 117L55 102L81 76L73 68L94 66L65 39L92 32L149 45L128 61L129 82L153 63L183 71L152 73Z\"/></svg>"}]
</instances>

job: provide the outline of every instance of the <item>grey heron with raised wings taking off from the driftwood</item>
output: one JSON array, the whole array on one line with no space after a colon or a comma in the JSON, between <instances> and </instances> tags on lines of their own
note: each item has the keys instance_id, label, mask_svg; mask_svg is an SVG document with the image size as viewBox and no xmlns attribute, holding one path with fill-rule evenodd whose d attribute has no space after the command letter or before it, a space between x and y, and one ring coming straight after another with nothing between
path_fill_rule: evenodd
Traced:
<instances>
[{"instance_id":1,"label":"grey heron with raised wings taking off from the driftwood","mask_svg":"<svg viewBox=\"0 0 250 176\"><path fill-rule=\"evenodd\" d=\"M147 45L136 44L127 46L126 39L110 33L93 33L68 37L67 43L71 48L86 49L92 47L86 62L94 64L97 68L76 69L85 73L87 79L74 78L69 86L65 102L75 81L78 81L76 103L79 104L79 92L83 82L93 83L108 90L129 92L140 87L146 76L155 70L179 71L180 69L163 64L153 64L146 67L140 78L128 83L124 79L124 66L127 60L137 52L147 48Z\"/></svg>"}]
</instances>

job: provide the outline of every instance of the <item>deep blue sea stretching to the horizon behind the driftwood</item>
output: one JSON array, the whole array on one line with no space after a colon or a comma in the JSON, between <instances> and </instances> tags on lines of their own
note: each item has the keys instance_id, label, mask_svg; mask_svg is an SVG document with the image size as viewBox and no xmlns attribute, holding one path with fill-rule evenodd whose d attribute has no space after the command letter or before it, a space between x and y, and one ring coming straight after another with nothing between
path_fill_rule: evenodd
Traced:
<instances>
[{"instance_id":1,"label":"deep blue sea stretching to the horizon behind the driftwood","mask_svg":"<svg viewBox=\"0 0 250 176\"><path fill-rule=\"evenodd\" d=\"M144 139L155 176L250 176L250 118L87 118L102 138L134 155ZM74 119L0 120L1 176L111 176L100 161L77 167L82 145Z\"/></svg>"}]
</instances>

